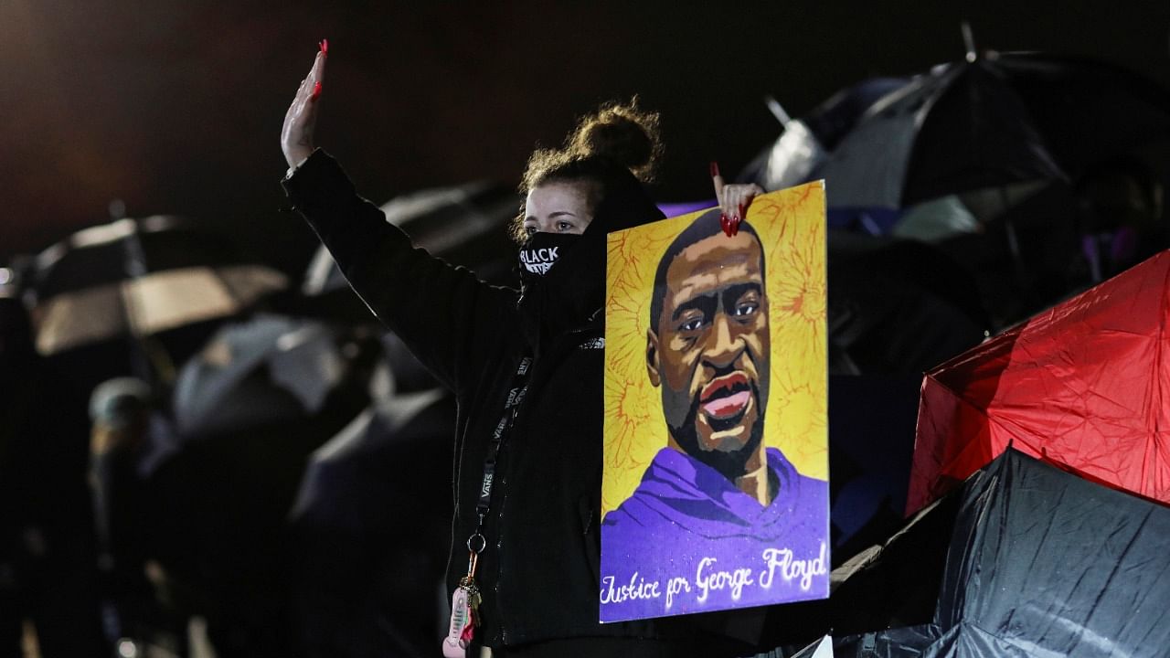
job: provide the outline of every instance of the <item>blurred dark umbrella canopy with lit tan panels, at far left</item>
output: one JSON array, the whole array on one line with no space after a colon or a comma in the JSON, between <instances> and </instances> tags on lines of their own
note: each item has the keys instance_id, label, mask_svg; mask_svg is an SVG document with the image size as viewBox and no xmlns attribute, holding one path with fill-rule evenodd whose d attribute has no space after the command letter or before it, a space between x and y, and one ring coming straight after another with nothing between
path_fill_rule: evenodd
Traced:
<instances>
[{"instance_id":1,"label":"blurred dark umbrella canopy with lit tan panels, at far left","mask_svg":"<svg viewBox=\"0 0 1170 658\"><path fill-rule=\"evenodd\" d=\"M154 215L75 233L35 260L36 348L53 355L240 313L285 277L230 259L223 240Z\"/></svg>"}]
</instances>

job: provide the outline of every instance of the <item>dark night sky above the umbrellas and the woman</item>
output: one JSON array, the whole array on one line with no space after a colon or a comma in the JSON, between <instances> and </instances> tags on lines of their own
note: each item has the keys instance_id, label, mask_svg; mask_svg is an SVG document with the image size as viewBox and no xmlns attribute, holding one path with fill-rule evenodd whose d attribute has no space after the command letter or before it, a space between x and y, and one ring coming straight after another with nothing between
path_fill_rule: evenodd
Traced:
<instances>
[{"instance_id":1,"label":"dark night sky above the umbrellas and the woman","mask_svg":"<svg viewBox=\"0 0 1170 658\"><path fill-rule=\"evenodd\" d=\"M426 5L426 6L420 6ZM913 6L911 6L913 5ZM1155 2L0 2L0 260L128 212L186 214L298 272L315 245L282 214L284 109L331 44L318 144L371 199L519 176L536 143L638 92L663 115L665 200L710 194L796 116L872 75L980 48L1115 62L1170 85Z\"/></svg>"}]
</instances>

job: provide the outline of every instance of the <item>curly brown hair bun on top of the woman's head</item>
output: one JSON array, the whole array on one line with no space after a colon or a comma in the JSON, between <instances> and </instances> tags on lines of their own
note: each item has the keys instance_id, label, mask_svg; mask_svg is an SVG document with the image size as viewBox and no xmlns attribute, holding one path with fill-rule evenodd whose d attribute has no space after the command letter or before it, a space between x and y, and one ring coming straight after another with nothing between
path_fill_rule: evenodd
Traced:
<instances>
[{"instance_id":1,"label":"curly brown hair bun on top of the woman's head","mask_svg":"<svg viewBox=\"0 0 1170 658\"><path fill-rule=\"evenodd\" d=\"M606 103L580 119L565 140L569 158L604 157L628 169L642 181L653 178L662 153L659 115L628 103Z\"/></svg>"}]
</instances>

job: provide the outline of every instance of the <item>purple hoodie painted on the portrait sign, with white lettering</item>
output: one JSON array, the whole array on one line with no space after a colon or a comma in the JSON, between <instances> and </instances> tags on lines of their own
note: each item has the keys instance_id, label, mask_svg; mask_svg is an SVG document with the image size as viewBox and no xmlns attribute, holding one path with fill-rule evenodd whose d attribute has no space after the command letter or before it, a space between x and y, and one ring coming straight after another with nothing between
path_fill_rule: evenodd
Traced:
<instances>
[{"instance_id":1,"label":"purple hoodie painted on the portrait sign, with white lettering","mask_svg":"<svg viewBox=\"0 0 1170 658\"><path fill-rule=\"evenodd\" d=\"M768 448L776 498L662 448L601 523L601 622L828 596L828 482Z\"/></svg>"}]
</instances>

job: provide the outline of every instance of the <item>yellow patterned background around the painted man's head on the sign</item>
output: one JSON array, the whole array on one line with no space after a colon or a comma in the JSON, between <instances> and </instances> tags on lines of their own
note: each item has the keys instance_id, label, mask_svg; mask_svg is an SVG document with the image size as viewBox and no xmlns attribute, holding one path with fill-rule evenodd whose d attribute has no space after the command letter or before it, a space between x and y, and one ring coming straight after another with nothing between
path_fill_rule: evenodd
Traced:
<instances>
[{"instance_id":1,"label":"yellow patterned background around the painted man's head on the sign","mask_svg":"<svg viewBox=\"0 0 1170 658\"><path fill-rule=\"evenodd\" d=\"M633 493L666 446L661 390L646 373L654 270L675 235L703 212L608 237L603 515ZM824 181L757 197L746 219L764 245L772 331L764 443L780 448L800 473L827 479Z\"/></svg>"}]
</instances>

